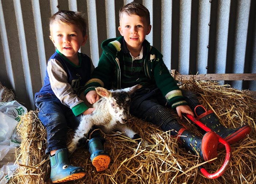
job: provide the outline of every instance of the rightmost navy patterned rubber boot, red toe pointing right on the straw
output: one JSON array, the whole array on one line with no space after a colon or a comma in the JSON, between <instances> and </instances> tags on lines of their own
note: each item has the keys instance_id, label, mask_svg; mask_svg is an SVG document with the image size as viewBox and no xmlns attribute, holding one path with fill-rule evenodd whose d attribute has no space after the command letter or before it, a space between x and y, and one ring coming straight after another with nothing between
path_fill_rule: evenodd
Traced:
<instances>
[{"instance_id":1,"label":"rightmost navy patterned rubber boot, red toe pointing right on the straw","mask_svg":"<svg viewBox=\"0 0 256 184\"><path fill-rule=\"evenodd\" d=\"M203 109L206 111L204 107ZM200 114L196 119L221 136L230 145L245 138L252 130L249 125L243 125L233 129L225 128L212 110L208 110L205 113ZM223 148L225 148L225 146L220 143L218 149Z\"/></svg>"}]
</instances>

